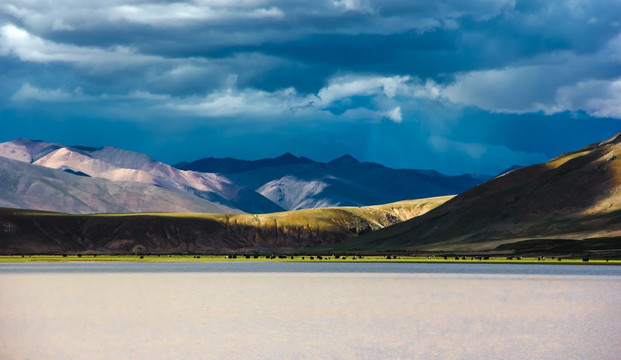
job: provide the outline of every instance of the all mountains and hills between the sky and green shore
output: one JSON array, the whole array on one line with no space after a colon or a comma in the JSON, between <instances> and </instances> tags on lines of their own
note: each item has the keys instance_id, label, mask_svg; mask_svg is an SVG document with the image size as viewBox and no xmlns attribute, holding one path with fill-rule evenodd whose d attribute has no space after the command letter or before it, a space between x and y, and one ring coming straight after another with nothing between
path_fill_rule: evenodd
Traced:
<instances>
[{"instance_id":1,"label":"all mountains and hills between the sky and green shore","mask_svg":"<svg viewBox=\"0 0 621 360\"><path fill-rule=\"evenodd\" d=\"M620 161L621 135L495 178L16 139L0 144L0 252L620 256Z\"/></svg>"}]
</instances>

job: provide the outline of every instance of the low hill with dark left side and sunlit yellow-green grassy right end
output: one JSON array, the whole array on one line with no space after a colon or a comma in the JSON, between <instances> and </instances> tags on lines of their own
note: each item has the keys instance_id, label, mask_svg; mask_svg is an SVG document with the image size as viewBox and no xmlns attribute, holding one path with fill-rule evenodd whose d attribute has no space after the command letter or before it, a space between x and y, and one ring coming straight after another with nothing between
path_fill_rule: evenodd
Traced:
<instances>
[{"instance_id":1,"label":"low hill with dark left side and sunlit yellow-green grassy right end","mask_svg":"<svg viewBox=\"0 0 621 360\"><path fill-rule=\"evenodd\" d=\"M0 253L210 253L329 248L423 214L450 198L261 215L69 215L0 209Z\"/></svg>"}]
</instances>

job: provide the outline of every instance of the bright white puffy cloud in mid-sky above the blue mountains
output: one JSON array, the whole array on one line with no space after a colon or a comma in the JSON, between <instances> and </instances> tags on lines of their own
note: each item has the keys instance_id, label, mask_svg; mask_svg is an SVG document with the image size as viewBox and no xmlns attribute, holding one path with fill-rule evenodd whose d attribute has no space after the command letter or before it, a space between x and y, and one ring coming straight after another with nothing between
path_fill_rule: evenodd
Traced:
<instances>
[{"instance_id":1,"label":"bright white puffy cloud in mid-sky above the blue mountains","mask_svg":"<svg viewBox=\"0 0 621 360\"><path fill-rule=\"evenodd\" d=\"M416 98L436 98L438 90L433 82L422 84L410 77L382 77L373 75L339 76L315 94L301 94L295 88L263 91L253 88L238 89L237 77L230 76L225 87L205 96L173 99L165 104L168 109L192 116L316 116L320 121L341 118L347 121L360 116L360 121L390 119L403 121L398 103L408 103ZM360 98L366 99L364 101ZM354 112L355 111L355 112ZM323 115L321 115L323 113Z\"/></svg>"}]
</instances>

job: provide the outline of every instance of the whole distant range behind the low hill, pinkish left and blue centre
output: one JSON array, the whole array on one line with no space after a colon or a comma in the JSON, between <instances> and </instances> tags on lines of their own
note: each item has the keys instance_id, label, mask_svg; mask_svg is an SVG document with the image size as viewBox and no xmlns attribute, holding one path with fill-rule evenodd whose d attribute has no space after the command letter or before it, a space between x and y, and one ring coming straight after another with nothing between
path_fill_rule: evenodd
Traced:
<instances>
[{"instance_id":1,"label":"whole distant range behind the low hill, pinkish left and blue centre","mask_svg":"<svg viewBox=\"0 0 621 360\"><path fill-rule=\"evenodd\" d=\"M272 213L452 195L487 179L391 169L345 155L204 158L170 166L110 146L0 143L0 206L65 213Z\"/></svg>"}]
</instances>

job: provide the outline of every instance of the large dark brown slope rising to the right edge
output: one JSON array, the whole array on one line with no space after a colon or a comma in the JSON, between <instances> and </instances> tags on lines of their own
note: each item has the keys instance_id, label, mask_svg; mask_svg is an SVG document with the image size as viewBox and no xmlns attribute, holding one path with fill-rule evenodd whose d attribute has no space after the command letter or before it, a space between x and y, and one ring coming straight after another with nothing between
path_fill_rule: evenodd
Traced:
<instances>
[{"instance_id":1,"label":"large dark brown slope rising to the right edge","mask_svg":"<svg viewBox=\"0 0 621 360\"><path fill-rule=\"evenodd\" d=\"M547 163L513 170L346 247L523 250L524 244L540 246L538 240L553 249L561 244L555 239L599 239L608 249L621 249L620 187L621 134Z\"/></svg>"}]
</instances>

